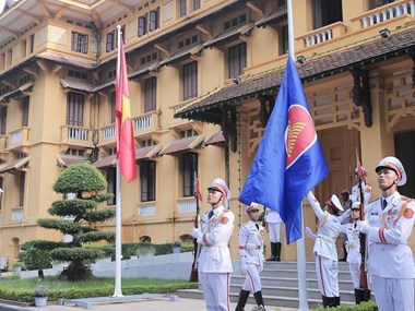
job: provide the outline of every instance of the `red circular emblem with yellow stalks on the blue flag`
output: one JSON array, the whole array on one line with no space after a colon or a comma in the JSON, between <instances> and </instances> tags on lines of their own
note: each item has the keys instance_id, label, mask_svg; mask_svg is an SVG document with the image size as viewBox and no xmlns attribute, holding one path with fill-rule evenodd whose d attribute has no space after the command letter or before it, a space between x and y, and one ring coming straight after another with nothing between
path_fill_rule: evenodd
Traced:
<instances>
[{"instance_id":1,"label":"red circular emblem with yellow stalks on the blue flag","mask_svg":"<svg viewBox=\"0 0 415 311\"><path fill-rule=\"evenodd\" d=\"M288 109L288 124L285 131L286 168L296 163L316 141L317 133L310 113L298 104L292 105Z\"/></svg>"}]
</instances>

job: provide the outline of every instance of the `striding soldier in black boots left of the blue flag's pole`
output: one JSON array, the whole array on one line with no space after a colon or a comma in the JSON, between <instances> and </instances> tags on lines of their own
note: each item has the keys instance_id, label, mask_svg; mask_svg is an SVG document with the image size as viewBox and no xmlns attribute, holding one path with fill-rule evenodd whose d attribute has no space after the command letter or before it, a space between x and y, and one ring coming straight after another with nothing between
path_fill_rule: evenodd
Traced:
<instances>
[{"instance_id":1,"label":"striding soldier in black boots left of the blue flag's pole","mask_svg":"<svg viewBox=\"0 0 415 311\"><path fill-rule=\"evenodd\" d=\"M264 228L258 224L258 204L252 202L251 205L247 206L245 215L249 217L249 222L241 225L239 229L239 259L240 270L246 274L246 278L235 311L244 311L250 291L252 291L257 302L252 311L265 311L259 275L263 270Z\"/></svg>"}]
</instances>

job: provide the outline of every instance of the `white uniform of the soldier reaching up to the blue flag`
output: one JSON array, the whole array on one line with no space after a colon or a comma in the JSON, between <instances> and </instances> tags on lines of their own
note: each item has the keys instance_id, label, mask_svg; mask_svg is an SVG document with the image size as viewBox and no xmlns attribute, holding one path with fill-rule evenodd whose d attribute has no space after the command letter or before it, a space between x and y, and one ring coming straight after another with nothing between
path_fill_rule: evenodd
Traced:
<instances>
[{"instance_id":1,"label":"white uniform of the soldier reaching up to the blue flag","mask_svg":"<svg viewBox=\"0 0 415 311\"><path fill-rule=\"evenodd\" d=\"M335 240L340 235L340 224L343 217L331 215L320 207L320 203L315 195L309 192L307 199L310 202L317 218L319 219L318 230L312 249L316 256L316 272L319 289L322 296L340 297L339 295L339 262ZM344 213L343 215L349 215Z\"/></svg>"}]
</instances>

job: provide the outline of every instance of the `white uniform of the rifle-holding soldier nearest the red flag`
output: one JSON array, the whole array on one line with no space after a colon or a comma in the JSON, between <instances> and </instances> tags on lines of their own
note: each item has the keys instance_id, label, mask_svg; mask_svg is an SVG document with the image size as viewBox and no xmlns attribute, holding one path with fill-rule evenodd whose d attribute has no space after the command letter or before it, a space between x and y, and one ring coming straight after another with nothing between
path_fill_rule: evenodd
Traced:
<instances>
[{"instance_id":1,"label":"white uniform of the rifle-holding soldier nearest the red flag","mask_svg":"<svg viewBox=\"0 0 415 311\"><path fill-rule=\"evenodd\" d=\"M198 271L209 311L229 311L229 279L233 272L228 241L234 230L234 213L224 206L203 215L202 244Z\"/></svg>"}]
</instances>

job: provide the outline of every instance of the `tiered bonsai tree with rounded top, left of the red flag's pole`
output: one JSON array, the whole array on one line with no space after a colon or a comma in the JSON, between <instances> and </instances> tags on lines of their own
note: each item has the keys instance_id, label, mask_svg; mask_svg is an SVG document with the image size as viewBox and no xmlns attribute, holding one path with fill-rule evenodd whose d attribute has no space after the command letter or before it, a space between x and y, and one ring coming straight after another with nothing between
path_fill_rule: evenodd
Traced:
<instances>
[{"instance_id":1,"label":"tiered bonsai tree with rounded top, left of the red flag's pole","mask_svg":"<svg viewBox=\"0 0 415 311\"><path fill-rule=\"evenodd\" d=\"M107 188L104 176L90 164L69 166L54 184L54 191L62 193L63 199L55 201L48 213L55 218L39 218L37 224L47 229L72 236L71 241L32 241L32 247L49 250L50 258L60 262L70 262L61 275L69 280L85 280L93 277L90 263L104 258L105 252L97 248L83 248L85 243L114 242L115 232L99 231L96 223L115 217L112 208L98 210L97 205L112 198L103 192Z\"/></svg>"}]
</instances>

